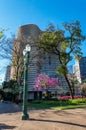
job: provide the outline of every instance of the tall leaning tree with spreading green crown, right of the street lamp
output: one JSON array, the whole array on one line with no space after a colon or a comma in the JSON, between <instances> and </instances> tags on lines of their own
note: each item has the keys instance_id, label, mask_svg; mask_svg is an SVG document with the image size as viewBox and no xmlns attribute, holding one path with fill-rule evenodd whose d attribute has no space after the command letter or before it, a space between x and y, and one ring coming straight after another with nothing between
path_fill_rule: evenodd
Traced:
<instances>
[{"instance_id":1,"label":"tall leaning tree with spreading green crown, right of the street lamp","mask_svg":"<svg viewBox=\"0 0 86 130\"><path fill-rule=\"evenodd\" d=\"M71 97L73 98L73 91L67 77L67 65L73 58L79 59L82 56L80 45L85 40L85 36L82 34L79 21L66 22L63 24L63 27L64 30L55 29L50 24L47 30L40 35L38 46L46 52L58 56L60 64L57 66L56 71L64 75L69 86Z\"/></svg>"}]
</instances>

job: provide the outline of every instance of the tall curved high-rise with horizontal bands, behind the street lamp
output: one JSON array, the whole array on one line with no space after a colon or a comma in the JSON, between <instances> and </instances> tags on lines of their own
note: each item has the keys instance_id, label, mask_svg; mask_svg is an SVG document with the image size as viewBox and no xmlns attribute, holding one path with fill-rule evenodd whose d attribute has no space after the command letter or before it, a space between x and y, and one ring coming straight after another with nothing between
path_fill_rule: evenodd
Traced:
<instances>
[{"instance_id":1,"label":"tall curved high-rise with horizontal bands, behind the street lamp","mask_svg":"<svg viewBox=\"0 0 86 130\"><path fill-rule=\"evenodd\" d=\"M20 26L18 28L18 34L14 40L13 50L17 50L18 54L22 57L23 49L27 44L31 46L30 52L30 70L28 73L28 98L34 98L36 92L34 92L33 86L35 78L38 74L44 73L50 77L57 77L59 79L59 86L63 87L64 90L68 91L68 85L64 76L56 73L56 67L59 65L58 57L54 54L45 53L42 49L37 46L37 40L42 31L34 24L28 24ZM15 60L17 53L12 54L12 60ZM21 70L21 66L19 72ZM11 67L11 78L15 75L14 66ZM40 91L40 95L42 94ZM51 88L49 91L56 92L57 88Z\"/></svg>"}]
</instances>

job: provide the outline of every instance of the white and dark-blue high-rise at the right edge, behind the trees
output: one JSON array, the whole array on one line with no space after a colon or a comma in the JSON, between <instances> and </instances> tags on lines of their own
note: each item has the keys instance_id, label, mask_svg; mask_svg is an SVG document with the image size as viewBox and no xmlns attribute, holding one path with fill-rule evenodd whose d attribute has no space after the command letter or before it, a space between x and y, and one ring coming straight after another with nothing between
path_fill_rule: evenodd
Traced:
<instances>
[{"instance_id":1,"label":"white and dark-blue high-rise at the right edge, behind the trees","mask_svg":"<svg viewBox=\"0 0 86 130\"><path fill-rule=\"evenodd\" d=\"M86 79L86 57L82 57L80 60L75 61L73 72L79 83L82 83L82 81Z\"/></svg>"}]
</instances>

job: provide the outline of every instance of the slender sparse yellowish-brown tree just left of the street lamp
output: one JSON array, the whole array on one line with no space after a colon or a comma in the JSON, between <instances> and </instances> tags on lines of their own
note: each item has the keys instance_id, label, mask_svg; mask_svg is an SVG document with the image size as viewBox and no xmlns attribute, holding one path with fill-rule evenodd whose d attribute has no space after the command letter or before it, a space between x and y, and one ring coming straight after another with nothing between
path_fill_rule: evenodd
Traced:
<instances>
[{"instance_id":1,"label":"slender sparse yellowish-brown tree just left of the street lamp","mask_svg":"<svg viewBox=\"0 0 86 130\"><path fill-rule=\"evenodd\" d=\"M14 39L12 46L12 61L11 61L11 70L13 71L13 74L11 75L11 78L16 80L20 86L22 75L24 72L24 60L23 60L23 54L20 51L18 44L20 44L20 40Z\"/></svg>"}]
</instances>

